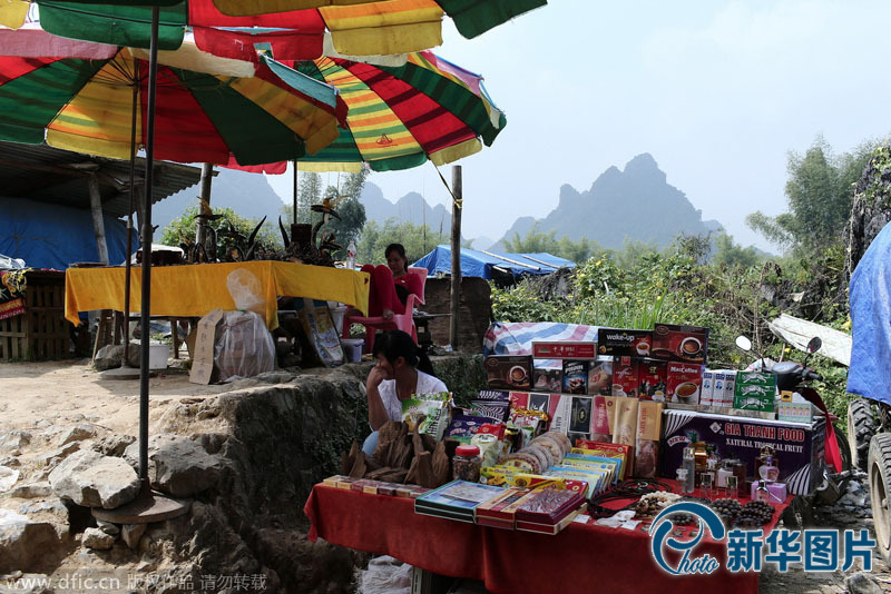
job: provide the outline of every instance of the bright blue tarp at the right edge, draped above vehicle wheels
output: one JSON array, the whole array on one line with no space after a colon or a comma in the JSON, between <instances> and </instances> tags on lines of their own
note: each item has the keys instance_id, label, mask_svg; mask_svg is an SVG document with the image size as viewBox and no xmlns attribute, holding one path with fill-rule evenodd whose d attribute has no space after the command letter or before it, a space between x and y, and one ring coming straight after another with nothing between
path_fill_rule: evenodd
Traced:
<instances>
[{"instance_id":1,"label":"bright blue tarp at the right edge, draped above vehicle wheels","mask_svg":"<svg viewBox=\"0 0 891 594\"><path fill-rule=\"evenodd\" d=\"M891 224L851 275L853 345L848 392L891 404Z\"/></svg>"}]
</instances>

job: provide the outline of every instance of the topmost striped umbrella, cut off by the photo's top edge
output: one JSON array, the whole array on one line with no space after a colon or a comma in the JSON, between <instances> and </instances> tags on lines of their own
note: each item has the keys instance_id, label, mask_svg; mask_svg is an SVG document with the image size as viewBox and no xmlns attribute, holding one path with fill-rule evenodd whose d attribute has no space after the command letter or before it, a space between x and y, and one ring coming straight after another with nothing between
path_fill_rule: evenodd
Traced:
<instances>
[{"instance_id":1,"label":"topmost striped umbrella, cut off by the photo's top edge","mask_svg":"<svg viewBox=\"0 0 891 594\"><path fill-rule=\"evenodd\" d=\"M547 0L36 0L43 28L52 33L119 46L147 48L151 9L126 4L168 4L160 9L158 43L176 49L186 27L199 48L236 57L255 43L271 46L280 59L315 59L325 30L341 55L407 53L442 43L448 14L459 32L477 37ZM0 23L16 28L25 2L0 2ZM125 4L125 6L105 6Z\"/></svg>"}]
</instances>

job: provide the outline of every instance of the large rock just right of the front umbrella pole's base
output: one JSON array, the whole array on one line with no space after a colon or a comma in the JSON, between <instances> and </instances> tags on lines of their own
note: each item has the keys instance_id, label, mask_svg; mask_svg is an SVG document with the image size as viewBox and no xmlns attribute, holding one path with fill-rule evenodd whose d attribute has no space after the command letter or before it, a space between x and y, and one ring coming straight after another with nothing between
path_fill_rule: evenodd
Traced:
<instances>
[{"instance_id":1,"label":"large rock just right of the front umbrella pole's base","mask_svg":"<svg viewBox=\"0 0 891 594\"><path fill-rule=\"evenodd\" d=\"M138 466L139 447L127 447L124 458ZM154 435L148 440L148 476L151 485L174 497L192 497L216 485L222 463L186 437Z\"/></svg>"}]
</instances>

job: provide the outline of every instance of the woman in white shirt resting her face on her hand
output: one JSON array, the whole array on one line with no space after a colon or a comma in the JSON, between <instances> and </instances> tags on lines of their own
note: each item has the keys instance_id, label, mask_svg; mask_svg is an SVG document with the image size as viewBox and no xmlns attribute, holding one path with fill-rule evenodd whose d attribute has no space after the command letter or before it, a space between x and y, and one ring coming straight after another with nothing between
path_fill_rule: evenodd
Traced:
<instances>
[{"instance_id":1,"label":"woman in white shirt resting her face on her hand","mask_svg":"<svg viewBox=\"0 0 891 594\"><path fill-rule=\"evenodd\" d=\"M402 330L381 334L374 340L373 355L378 365L365 382L369 425L373 432L362 445L366 456L378 447L378 430L384 423L402 419L402 400L410 399L413 394L449 392L446 384L433 375L433 365L427 355Z\"/></svg>"}]
</instances>

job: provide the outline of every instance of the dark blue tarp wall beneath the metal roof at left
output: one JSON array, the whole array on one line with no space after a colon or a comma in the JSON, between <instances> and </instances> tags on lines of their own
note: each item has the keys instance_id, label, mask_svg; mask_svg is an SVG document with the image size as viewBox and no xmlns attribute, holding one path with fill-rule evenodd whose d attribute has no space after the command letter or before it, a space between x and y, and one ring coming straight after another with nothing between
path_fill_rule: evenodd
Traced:
<instances>
[{"instance_id":1,"label":"dark blue tarp wall beneath the metal roof at left","mask_svg":"<svg viewBox=\"0 0 891 594\"><path fill-rule=\"evenodd\" d=\"M126 259L127 226L105 217L108 258ZM134 246L138 241L134 238ZM99 261L89 210L26 198L0 198L0 254L21 258L29 268L65 270L76 261Z\"/></svg>"}]
</instances>

